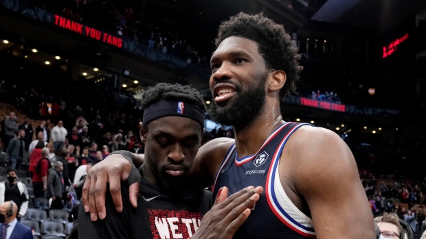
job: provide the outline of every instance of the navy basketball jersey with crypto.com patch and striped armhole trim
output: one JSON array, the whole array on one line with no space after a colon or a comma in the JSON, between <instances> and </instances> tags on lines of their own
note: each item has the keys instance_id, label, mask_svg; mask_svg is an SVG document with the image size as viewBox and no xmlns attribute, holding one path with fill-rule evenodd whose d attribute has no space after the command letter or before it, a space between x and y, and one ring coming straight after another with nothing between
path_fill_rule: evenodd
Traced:
<instances>
[{"instance_id":1,"label":"navy basketball jersey with crypto.com patch and striped armhole trim","mask_svg":"<svg viewBox=\"0 0 426 239\"><path fill-rule=\"evenodd\" d=\"M306 124L284 123L273 131L254 155L238 158L235 144L227 152L216 175L214 197L227 186L228 195L247 186L263 186L264 191L247 221L234 238L315 238L312 219L296 207L282 188L278 162L287 139Z\"/></svg>"}]
</instances>

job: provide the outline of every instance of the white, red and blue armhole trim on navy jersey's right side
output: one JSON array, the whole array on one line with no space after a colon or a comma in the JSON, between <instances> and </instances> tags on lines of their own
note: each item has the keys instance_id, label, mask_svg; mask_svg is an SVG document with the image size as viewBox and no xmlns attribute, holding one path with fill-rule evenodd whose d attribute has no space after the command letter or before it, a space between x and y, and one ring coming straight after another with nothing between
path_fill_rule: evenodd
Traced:
<instances>
[{"instance_id":1,"label":"white, red and blue armhole trim on navy jersey's right side","mask_svg":"<svg viewBox=\"0 0 426 239\"><path fill-rule=\"evenodd\" d=\"M282 139L280 142L280 147L276 150L276 152L273 155L273 162L271 163L271 166L269 167L268 176L267 176L267 187L265 190L265 194L267 195L267 201L269 204L269 207L271 208L272 212L276 214L276 216L287 225L287 227L293 229L294 231L298 232L299 234L302 234L303 236L307 236L310 238L316 238L315 231L311 227L305 227L304 225L298 223L295 221L285 210L282 208L282 206L278 203L278 200L275 196L275 190L273 186L273 179L275 178L275 174L277 172L278 168L278 162L280 161L280 155L282 153L282 149L284 148L285 143L293 134L293 132L301 127L302 125L309 125L309 124L298 124L293 126L293 128L287 133L286 136Z\"/></svg>"}]
</instances>

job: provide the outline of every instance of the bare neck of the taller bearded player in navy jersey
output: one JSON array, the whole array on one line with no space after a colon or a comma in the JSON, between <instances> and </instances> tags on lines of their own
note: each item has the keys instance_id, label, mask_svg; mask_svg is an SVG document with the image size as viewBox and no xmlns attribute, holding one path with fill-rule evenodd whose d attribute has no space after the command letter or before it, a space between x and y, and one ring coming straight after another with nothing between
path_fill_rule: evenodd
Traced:
<instances>
[{"instance_id":1,"label":"bare neck of the taller bearded player in navy jersey","mask_svg":"<svg viewBox=\"0 0 426 239\"><path fill-rule=\"evenodd\" d=\"M271 110L272 109L272 110ZM245 129L235 130L235 145L238 158L253 155L262 147L267 138L282 125L280 107L267 105L259 113L258 118Z\"/></svg>"}]
</instances>

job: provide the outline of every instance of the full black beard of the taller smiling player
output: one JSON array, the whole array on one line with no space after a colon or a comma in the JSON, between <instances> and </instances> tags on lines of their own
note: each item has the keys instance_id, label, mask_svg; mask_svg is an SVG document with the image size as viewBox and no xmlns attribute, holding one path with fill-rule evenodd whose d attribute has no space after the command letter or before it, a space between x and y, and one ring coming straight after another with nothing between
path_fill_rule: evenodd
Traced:
<instances>
[{"instance_id":1,"label":"full black beard of the taller smiling player","mask_svg":"<svg viewBox=\"0 0 426 239\"><path fill-rule=\"evenodd\" d=\"M213 99L209 110L212 120L221 125L232 125L237 131L247 129L258 118L263 105L265 105L266 79L267 74L260 79L256 88L247 92L242 92L240 86L236 86L238 95L229 105L219 106Z\"/></svg>"}]
</instances>

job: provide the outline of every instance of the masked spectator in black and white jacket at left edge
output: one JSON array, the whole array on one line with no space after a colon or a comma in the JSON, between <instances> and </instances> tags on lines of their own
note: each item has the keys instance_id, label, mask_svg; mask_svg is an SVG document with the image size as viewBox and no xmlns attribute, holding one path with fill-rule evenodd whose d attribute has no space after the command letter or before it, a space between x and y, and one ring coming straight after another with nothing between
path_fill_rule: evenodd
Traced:
<instances>
[{"instance_id":1,"label":"masked spectator in black and white jacket at left edge","mask_svg":"<svg viewBox=\"0 0 426 239\"><path fill-rule=\"evenodd\" d=\"M8 168L6 171L8 180L0 182L0 205L5 201L14 201L18 206L16 218L21 221L28 209L27 187L21 181L17 181L18 171L14 168Z\"/></svg>"}]
</instances>

